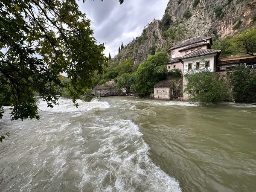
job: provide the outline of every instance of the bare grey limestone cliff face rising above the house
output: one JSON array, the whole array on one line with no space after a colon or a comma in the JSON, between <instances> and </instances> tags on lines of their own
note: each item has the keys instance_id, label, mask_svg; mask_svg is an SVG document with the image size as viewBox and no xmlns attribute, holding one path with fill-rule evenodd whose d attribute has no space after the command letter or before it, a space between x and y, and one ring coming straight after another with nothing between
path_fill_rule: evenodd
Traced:
<instances>
[{"instance_id":1,"label":"bare grey limestone cliff face rising above the house","mask_svg":"<svg viewBox=\"0 0 256 192\"><path fill-rule=\"evenodd\" d=\"M161 21L154 20L111 64L128 58L132 58L134 64L142 63L150 54L166 50L178 41L199 35L224 38L256 25L256 0L200 0L194 7L193 3L194 0L169 0L167 4L165 13L172 17L170 28L179 27L182 33L179 38L164 37ZM184 13L189 18L185 18Z\"/></svg>"}]
</instances>

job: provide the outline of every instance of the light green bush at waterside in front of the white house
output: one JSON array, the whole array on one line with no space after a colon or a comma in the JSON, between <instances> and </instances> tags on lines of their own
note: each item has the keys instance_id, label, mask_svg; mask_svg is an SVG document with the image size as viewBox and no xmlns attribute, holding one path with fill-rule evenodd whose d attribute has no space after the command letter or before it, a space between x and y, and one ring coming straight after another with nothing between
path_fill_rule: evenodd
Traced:
<instances>
[{"instance_id":1,"label":"light green bush at waterside in front of the white house","mask_svg":"<svg viewBox=\"0 0 256 192\"><path fill-rule=\"evenodd\" d=\"M189 94L189 101L201 102L204 105L229 98L227 84L208 68L189 70L185 78L188 83L184 91Z\"/></svg>"}]
</instances>

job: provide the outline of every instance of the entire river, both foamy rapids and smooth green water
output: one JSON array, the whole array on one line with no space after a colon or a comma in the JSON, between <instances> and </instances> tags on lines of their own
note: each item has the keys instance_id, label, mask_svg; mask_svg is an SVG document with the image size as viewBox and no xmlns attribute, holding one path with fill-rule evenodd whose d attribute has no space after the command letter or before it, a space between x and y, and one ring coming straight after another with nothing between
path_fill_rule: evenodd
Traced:
<instances>
[{"instance_id":1,"label":"entire river, both foamy rapids and smooth green water","mask_svg":"<svg viewBox=\"0 0 256 192\"><path fill-rule=\"evenodd\" d=\"M0 119L0 191L256 190L256 106L59 102L40 102L39 121Z\"/></svg>"}]
</instances>

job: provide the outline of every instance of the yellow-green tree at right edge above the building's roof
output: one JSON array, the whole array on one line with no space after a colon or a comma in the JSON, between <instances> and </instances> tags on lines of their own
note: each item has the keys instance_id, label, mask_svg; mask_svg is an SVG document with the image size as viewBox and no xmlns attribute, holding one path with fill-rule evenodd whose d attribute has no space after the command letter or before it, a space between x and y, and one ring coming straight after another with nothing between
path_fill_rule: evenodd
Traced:
<instances>
[{"instance_id":1,"label":"yellow-green tree at right edge above the building's roof","mask_svg":"<svg viewBox=\"0 0 256 192\"><path fill-rule=\"evenodd\" d=\"M256 52L256 26L245 29L239 35L230 39L230 44L233 49L249 54L255 55Z\"/></svg>"}]
</instances>

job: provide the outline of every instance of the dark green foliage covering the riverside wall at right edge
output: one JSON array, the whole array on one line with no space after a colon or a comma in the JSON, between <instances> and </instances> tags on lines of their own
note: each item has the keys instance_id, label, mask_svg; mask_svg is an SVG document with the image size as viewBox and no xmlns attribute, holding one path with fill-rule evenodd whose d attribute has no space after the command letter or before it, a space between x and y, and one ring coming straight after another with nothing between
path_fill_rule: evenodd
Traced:
<instances>
[{"instance_id":1,"label":"dark green foliage covering the riverside wall at right edge","mask_svg":"<svg viewBox=\"0 0 256 192\"><path fill-rule=\"evenodd\" d=\"M236 102L256 102L256 70L238 66L228 71L227 77L233 87Z\"/></svg>"}]
</instances>

